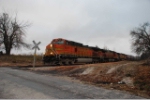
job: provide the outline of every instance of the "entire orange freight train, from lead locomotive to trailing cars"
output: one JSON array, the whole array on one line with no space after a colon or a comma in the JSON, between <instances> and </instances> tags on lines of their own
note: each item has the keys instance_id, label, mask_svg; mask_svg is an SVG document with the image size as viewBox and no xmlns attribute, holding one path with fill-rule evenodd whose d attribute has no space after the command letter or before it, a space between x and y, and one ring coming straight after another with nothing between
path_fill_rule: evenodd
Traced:
<instances>
[{"instance_id":1,"label":"entire orange freight train, from lead locomotive to trailing cars","mask_svg":"<svg viewBox=\"0 0 150 100\"><path fill-rule=\"evenodd\" d=\"M58 38L46 46L43 62L56 65L75 63L100 63L127 60L129 56L115 51L83 45L82 43Z\"/></svg>"}]
</instances>

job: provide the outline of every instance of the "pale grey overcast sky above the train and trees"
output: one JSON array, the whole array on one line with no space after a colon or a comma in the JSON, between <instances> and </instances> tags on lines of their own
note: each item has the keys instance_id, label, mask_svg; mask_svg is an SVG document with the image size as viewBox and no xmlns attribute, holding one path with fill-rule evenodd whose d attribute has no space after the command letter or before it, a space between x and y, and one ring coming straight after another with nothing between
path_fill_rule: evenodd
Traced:
<instances>
[{"instance_id":1,"label":"pale grey overcast sky above the train and trees","mask_svg":"<svg viewBox=\"0 0 150 100\"><path fill-rule=\"evenodd\" d=\"M52 39L64 38L134 55L130 31L150 22L150 0L0 0L0 14L3 11L17 12L20 22L32 23L26 41L41 41L38 53L44 53Z\"/></svg>"}]
</instances>

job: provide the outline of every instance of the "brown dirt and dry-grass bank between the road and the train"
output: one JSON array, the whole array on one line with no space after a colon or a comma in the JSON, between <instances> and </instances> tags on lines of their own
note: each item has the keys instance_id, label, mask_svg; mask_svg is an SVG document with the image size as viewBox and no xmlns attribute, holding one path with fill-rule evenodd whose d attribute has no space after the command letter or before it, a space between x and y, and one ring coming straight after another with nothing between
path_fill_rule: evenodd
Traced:
<instances>
[{"instance_id":1,"label":"brown dirt and dry-grass bank between the road and the train","mask_svg":"<svg viewBox=\"0 0 150 100\"><path fill-rule=\"evenodd\" d=\"M120 61L99 64L81 64L69 66L44 66L38 60L36 67L29 61L2 61L0 66L21 68L40 74L67 76L107 89L118 89L150 98L150 66L145 61Z\"/></svg>"}]
</instances>

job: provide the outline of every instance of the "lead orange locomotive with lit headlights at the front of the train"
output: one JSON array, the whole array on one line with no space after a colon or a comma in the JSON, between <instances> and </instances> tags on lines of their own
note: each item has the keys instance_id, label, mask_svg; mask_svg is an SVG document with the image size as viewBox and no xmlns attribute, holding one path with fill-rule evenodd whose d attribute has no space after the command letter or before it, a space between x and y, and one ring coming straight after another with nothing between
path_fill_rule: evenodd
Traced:
<instances>
[{"instance_id":1,"label":"lead orange locomotive with lit headlights at the front of the train","mask_svg":"<svg viewBox=\"0 0 150 100\"><path fill-rule=\"evenodd\" d=\"M46 46L43 57L44 63L51 64L74 64L76 62L92 62L92 49L81 43L54 39Z\"/></svg>"}]
</instances>

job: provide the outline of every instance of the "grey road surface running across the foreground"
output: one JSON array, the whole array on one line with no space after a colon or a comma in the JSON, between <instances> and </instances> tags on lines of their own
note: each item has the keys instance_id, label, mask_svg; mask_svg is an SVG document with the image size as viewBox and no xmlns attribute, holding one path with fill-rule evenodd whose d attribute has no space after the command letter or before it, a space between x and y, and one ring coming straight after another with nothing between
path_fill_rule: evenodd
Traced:
<instances>
[{"instance_id":1,"label":"grey road surface running across the foreground","mask_svg":"<svg viewBox=\"0 0 150 100\"><path fill-rule=\"evenodd\" d=\"M119 90L83 84L71 79L0 68L0 99L142 99Z\"/></svg>"}]
</instances>

